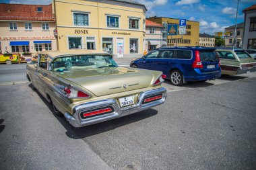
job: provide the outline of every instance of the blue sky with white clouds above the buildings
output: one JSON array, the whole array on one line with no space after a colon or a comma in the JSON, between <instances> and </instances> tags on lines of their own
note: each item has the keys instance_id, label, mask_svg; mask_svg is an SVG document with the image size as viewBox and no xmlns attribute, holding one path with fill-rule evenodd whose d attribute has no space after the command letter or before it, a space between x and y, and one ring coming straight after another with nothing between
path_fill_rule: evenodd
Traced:
<instances>
[{"instance_id":1,"label":"blue sky with white clouds above the buildings","mask_svg":"<svg viewBox=\"0 0 256 170\"><path fill-rule=\"evenodd\" d=\"M145 5L146 17L172 17L200 23L200 33L214 35L236 22L238 0L133 0ZM0 0L3 3L48 5L51 0ZM243 22L243 9L256 0L239 0L237 24Z\"/></svg>"}]
</instances>

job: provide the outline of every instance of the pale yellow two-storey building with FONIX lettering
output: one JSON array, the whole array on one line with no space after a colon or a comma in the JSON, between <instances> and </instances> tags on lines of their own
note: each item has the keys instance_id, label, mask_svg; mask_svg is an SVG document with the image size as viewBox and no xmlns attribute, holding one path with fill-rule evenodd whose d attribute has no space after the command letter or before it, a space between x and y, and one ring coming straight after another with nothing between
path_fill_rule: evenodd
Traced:
<instances>
[{"instance_id":1,"label":"pale yellow two-storey building with FONIX lettering","mask_svg":"<svg viewBox=\"0 0 256 170\"><path fill-rule=\"evenodd\" d=\"M117 57L143 54L146 7L131 0L54 0L60 51L104 50Z\"/></svg>"}]
</instances>

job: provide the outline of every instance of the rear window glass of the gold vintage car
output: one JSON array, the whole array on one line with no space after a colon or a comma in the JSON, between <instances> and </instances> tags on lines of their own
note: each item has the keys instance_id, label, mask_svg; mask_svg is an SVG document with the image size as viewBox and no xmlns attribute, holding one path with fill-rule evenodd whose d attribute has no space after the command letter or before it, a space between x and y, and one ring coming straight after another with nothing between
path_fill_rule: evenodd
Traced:
<instances>
[{"instance_id":1,"label":"rear window glass of the gold vintage car","mask_svg":"<svg viewBox=\"0 0 256 170\"><path fill-rule=\"evenodd\" d=\"M55 72L71 71L74 69L100 69L104 67L118 67L110 55L75 55L56 58L52 62Z\"/></svg>"}]
</instances>

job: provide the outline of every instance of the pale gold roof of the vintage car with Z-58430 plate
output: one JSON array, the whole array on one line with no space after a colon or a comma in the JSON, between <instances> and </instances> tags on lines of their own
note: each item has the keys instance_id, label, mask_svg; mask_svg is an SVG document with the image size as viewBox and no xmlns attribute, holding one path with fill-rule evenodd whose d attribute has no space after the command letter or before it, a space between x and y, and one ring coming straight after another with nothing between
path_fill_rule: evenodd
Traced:
<instances>
[{"instance_id":1,"label":"pale gold roof of the vintage car with Z-58430 plate","mask_svg":"<svg viewBox=\"0 0 256 170\"><path fill-rule=\"evenodd\" d=\"M100 51L100 50L69 50L69 51L43 51L43 52L39 52L38 54L46 54L51 56L51 58L56 58L59 56L69 56L69 55L76 55L76 54L108 54L108 55L112 55L109 54L108 52L104 52L104 51Z\"/></svg>"}]
</instances>

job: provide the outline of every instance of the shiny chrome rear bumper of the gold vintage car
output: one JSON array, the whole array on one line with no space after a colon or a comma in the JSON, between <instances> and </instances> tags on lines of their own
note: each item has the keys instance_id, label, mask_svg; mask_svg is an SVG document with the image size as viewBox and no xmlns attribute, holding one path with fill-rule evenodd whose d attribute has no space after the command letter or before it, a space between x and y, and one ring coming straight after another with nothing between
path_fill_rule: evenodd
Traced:
<instances>
[{"instance_id":1,"label":"shiny chrome rear bumper of the gold vintage car","mask_svg":"<svg viewBox=\"0 0 256 170\"><path fill-rule=\"evenodd\" d=\"M160 95L160 94L162 94L162 99L143 104L143 99L145 99L146 97L150 97L153 95ZM133 114L135 112L140 112L141 110L153 108L156 105L160 105L164 103L165 99L166 99L166 89L164 87L161 87L159 89L153 89L150 91L141 92L139 94L139 99L137 103L135 103L134 105L127 106L125 108L120 108L119 104L115 99L104 99L100 101L92 101L88 103L83 103L81 105L76 105L73 108L73 115L69 113L65 113L64 116L67 119L67 121L69 121L69 123L74 127L88 126L90 124L104 122L106 120L119 118L122 116ZM94 116L92 118L86 118L86 119L82 119L80 116L81 112L84 112L86 110L92 110L92 109L102 108L106 106L112 106L115 111L109 114L103 114L100 116Z\"/></svg>"}]
</instances>

